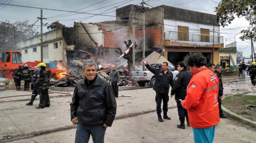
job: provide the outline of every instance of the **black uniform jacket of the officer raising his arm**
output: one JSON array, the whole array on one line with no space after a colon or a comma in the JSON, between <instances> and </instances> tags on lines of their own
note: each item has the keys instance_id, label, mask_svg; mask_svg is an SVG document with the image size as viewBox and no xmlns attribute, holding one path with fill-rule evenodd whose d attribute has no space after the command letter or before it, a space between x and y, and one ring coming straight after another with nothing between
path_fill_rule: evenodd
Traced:
<instances>
[{"instance_id":1,"label":"black uniform jacket of the officer raising his arm","mask_svg":"<svg viewBox=\"0 0 256 143\"><path fill-rule=\"evenodd\" d=\"M154 83L153 90L159 93L169 93L170 85L172 87L172 78L173 74L170 71L167 71L166 74L164 74L164 71L151 68L149 64L146 65L147 69L155 74L156 80Z\"/></svg>"}]
</instances>

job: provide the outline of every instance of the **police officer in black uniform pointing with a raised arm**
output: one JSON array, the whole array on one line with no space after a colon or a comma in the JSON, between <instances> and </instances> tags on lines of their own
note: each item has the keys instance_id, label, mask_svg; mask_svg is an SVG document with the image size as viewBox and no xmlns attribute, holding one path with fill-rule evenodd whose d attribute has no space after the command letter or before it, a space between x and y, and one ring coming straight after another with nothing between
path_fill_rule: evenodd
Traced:
<instances>
[{"instance_id":1,"label":"police officer in black uniform pointing with a raised arm","mask_svg":"<svg viewBox=\"0 0 256 143\"><path fill-rule=\"evenodd\" d=\"M147 69L150 72L155 74L155 83L154 83L153 90L156 91L155 101L156 101L156 113L158 116L158 121L163 122L163 119L171 120L171 118L167 116L167 111L168 111L168 101L169 101L168 93L169 93L170 85L172 87L173 74L170 71L168 71L168 63L163 62L162 69L159 70L159 69L151 68L151 66L147 64L145 60L142 60L142 62L146 65ZM162 100L163 100L163 112L164 112L163 119L161 116Z\"/></svg>"}]
</instances>

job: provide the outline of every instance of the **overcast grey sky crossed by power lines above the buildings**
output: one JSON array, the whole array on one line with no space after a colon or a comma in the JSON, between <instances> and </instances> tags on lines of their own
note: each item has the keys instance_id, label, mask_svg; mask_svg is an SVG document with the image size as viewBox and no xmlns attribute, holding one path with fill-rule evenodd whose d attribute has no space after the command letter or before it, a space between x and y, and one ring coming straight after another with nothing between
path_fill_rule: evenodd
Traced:
<instances>
[{"instance_id":1,"label":"overcast grey sky crossed by power lines above the buildings","mask_svg":"<svg viewBox=\"0 0 256 143\"><path fill-rule=\"evenodd\" d=\"M66 11L78 11L78 12L86 12L99 14L106 13L105 15L113 15L115 16L115 9L120 8L129 4L140 5L142 1L140 0L0 0L0 3L5 4L13 4L13 5L22 5L22 6L32 6L32 7L42 7L48 9L58 9L58 10L66 10ZM216 14L214 12L215 7L218 5L220 0L145 0L148 4L147 7L150 6L159 6L159 5L168 5L175 6L183 9L199 11L204 13ZM111 6L109 6L111 5ZM150 6L149 6L150 5ZM37 17L40 17L40 9L26 8L26 7L16 7L16 6L5 6L0 4L0 21L8 20L10 23L14 23L15 21L25 21L28 20L30 24L37 21ZM150 7L151 8L151 7ZM81 9L81 10L80 10ZM107 13L109 12L109 13ZM101 21L109 21L115 20L115 17L111 16L102 16L97 15L91 18L86 18L88 16L92 16L90 14L77 14L70 12L61 12L61 11L52 11L52 10L43 10L43 17L47 18L43 20L43 23L55 22L59 20L60 23L70 27L73 26L75 22L101 22ZM74 20L76 19L76 20ZM40 20L35 24L38 25L38 31L40 31ZM220 28L220 36L224 36L224 43L229 44L234 42L235 34L239 33L241 30L249 26L249 22L244 18L236 18L229 26L225 28ZM232 29L231 28L237 28ZM49 31L47 27L43 27L43 32ZM227 33L227 34L226 34ZM237 41L237 50L243 51L243 56L250 57L251 54L251 42L250 41L242 41L239 39L241 35L236 35ZM254 43L255 45L255 43ZM256 45L255 45L256 46Z\"/></svg>"}]
</instances>

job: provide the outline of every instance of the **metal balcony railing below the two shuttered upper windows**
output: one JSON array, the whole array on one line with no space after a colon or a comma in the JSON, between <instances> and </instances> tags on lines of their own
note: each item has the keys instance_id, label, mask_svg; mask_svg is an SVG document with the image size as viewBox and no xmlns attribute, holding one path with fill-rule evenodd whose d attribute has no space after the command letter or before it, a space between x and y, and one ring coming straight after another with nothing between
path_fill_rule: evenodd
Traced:
<instances>
[{"instance_id":1,"label":"metal balcony railing below the two shuttered upper windows","mask_svg":"<svg viewBox=\"0 0 256 143\"><path fill-rule=\"evenodd\" d=\"M202 34L191 34L183 32L165 32L165 40L209 42L213 43L213 36ZM223 43L223 37L214 36L214 43Z\"/></svg>"}]
</instances>

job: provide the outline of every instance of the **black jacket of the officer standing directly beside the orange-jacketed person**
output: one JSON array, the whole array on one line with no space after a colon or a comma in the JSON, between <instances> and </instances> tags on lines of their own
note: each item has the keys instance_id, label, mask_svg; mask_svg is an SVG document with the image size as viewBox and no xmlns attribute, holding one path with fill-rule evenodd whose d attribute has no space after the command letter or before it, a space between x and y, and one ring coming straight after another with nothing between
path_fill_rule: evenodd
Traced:
<instances>
[{"instance_id":1,"label":"black jacket of the officer standing directly beside the orange-jacketed person","mask_svg":"<svg viewBox=\"0 0 256 143\"><path fill-rule=\"evenodd\" d=\"M191 73L186 70L182 70L176 75L171 88L171 95L175 94L175 100L185 100L187 96L187 86L191 78Z\"/></svg>"}]
</instances>

